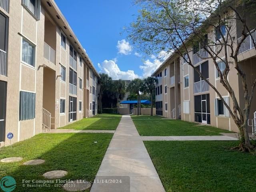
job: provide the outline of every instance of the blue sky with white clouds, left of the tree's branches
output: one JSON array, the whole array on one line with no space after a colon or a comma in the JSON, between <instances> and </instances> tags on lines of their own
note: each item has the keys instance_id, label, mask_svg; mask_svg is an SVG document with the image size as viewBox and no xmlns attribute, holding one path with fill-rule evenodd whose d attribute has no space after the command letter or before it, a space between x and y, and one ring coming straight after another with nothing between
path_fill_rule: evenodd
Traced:
<instances>
[{"instance_id":1,"label":"blue sky with white clouds, left of the tree's branches","mask_svg":"<svg viewBox=\"0 0 256 192\"><path fill-rule=\"evenodd\" d=\"M166 52L147 56L136 50L123 28L136 19L133 0L55 0L96 70L112 79L150 76Z\"/></svg>"}]
</instances>

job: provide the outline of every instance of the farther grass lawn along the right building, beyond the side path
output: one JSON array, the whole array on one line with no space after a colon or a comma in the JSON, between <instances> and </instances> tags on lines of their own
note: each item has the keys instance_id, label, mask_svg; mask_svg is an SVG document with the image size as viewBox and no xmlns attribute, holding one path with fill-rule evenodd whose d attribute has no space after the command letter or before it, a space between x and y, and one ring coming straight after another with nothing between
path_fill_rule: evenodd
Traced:
<instances>
[{"instance_id":1,"label":"farther grass lawn along the right building, beyond the side path","mask_svg":"<svg viewBox=\"0 0 256 192\"><path fill-rule=\"evenodd\" d=\"M145 119L143 119L145 118ZM147 118L149 118L147 120ZM221 135L232 133L212 126L199 126L182 120L158 119L159 116L133 116L132 120L141 136Z\"/></svg>"}]
</instances>

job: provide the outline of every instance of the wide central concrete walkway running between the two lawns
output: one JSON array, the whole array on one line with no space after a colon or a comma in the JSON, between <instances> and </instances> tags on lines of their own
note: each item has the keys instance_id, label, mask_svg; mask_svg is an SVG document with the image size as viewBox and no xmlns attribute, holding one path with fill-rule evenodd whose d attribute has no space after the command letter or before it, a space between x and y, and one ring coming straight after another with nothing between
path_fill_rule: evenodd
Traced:
<instances>
[{"instance_id":1,"label":"wide central concrete walkway running between the two lawns","mask_svg":"<svg viewBox=\"0 0 256 192\"><path fill-rule=\"evenodd\" d=\"M165 192L129 115L122 116L90 192Z\"/></svg>"}]
</instances>

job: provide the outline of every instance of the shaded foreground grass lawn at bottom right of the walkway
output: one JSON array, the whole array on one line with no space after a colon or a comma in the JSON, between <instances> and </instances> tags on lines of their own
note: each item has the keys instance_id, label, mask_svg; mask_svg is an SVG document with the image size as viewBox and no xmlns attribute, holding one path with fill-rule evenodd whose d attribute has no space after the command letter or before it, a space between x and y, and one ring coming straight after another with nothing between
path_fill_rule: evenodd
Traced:
<instances>
[{"instance_id":1,"label":"shaded foreground grass lawn at bottom right of the walkway","mask_svg":"<svg viewBox=\"0 0 256 192\"><path fill-rule=\"evenodd\" d=\"M145 141L166 192L255 192L256 156L237 141Z\"/></svg>"}]
</instances>

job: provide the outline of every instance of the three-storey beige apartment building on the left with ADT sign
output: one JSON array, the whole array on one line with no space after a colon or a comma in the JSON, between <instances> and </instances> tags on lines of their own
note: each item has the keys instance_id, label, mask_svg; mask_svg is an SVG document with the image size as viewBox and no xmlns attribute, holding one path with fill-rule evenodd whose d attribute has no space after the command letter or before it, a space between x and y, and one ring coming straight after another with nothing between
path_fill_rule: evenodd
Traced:
<instances>
[{"instance_id":1,"label":"three-storey beige apartment building on the left with ADT sign","mask_svg":"<svg viewBox=\"0 0 256 192\"><path fill-rule=\"evenodd\" d=\"M0 146L95 115L98 78L54 0L0 0Z\"/></svg>"}]
</instances>

